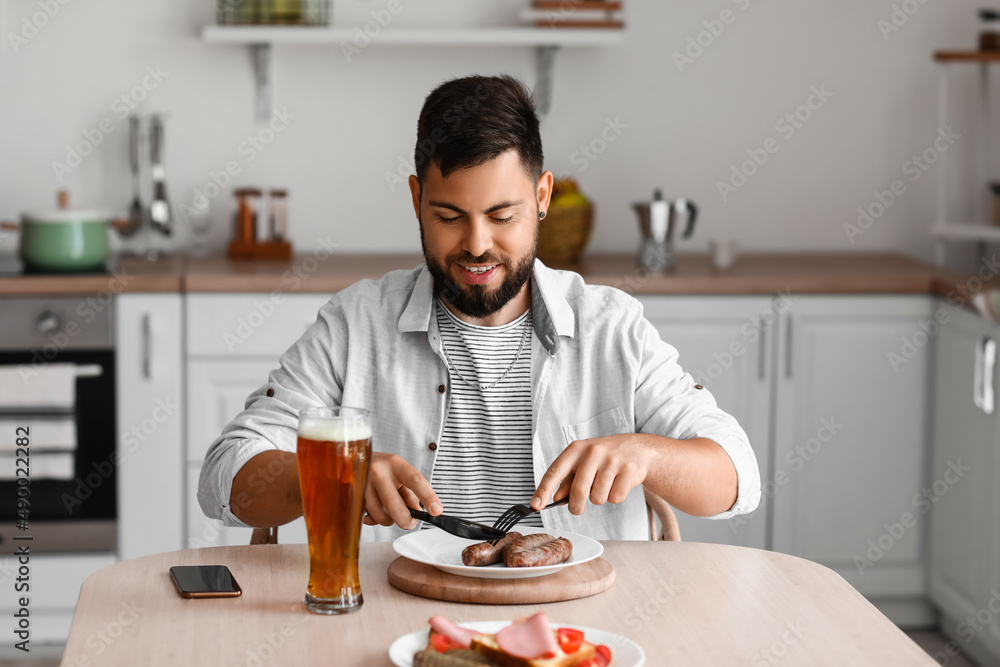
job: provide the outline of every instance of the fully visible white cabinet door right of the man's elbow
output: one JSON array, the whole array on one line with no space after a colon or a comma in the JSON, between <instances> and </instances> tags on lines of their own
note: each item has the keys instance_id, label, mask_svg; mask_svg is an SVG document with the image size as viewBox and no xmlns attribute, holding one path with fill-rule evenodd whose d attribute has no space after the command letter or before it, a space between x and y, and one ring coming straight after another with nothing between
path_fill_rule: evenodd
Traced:
<instances>
[{"instance_id":1,"label":"fully visible white cabinet door right of the man's elbow","mask_svg":"<svg viewBox=\"0 0 1000 667\"><path fill-rule=\"evenodd\" d=\"M782 315L773 546L869 597L925 589L927 517L915 498L927 472L931 316L930 297L909 296L804 296Z\"/></svg>"}]
</instances>

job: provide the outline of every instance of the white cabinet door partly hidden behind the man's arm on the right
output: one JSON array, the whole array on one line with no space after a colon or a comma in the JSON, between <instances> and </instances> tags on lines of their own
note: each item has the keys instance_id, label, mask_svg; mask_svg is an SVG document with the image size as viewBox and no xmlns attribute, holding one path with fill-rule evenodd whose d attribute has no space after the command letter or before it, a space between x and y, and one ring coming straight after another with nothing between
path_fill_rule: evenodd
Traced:
<instances>
[{"instance_id":1,"label":"white cabinet door partly hidden behind the man's arm on the right","mask_svg":"<svg viewBox=\"0 0 1000 667\"><path fill-rule=\"evenodd\" d=\"M712 392L747 432L761 479L769 470L772 327L781 298L642 297L646 318L680 355L681 367ZM767 498L750 515L712 521L677 512L681 538L765 548Z\"/></svg>"}]
</instances>

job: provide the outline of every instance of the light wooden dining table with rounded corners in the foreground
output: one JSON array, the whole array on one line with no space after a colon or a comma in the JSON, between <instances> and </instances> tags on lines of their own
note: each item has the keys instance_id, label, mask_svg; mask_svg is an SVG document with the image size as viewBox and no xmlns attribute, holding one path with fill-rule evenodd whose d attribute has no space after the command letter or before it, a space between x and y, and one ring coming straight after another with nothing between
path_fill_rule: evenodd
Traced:
<instances>
[{"instance_id":1,"label":"light wooden dining table with rounded corners in the foreground","mask_svg":"<svg viewBox=\"0 0 1000 667\"><path fill-rule=\"evenodd\" d=\"M319 616L303 605L305 545L215 547L106 567L83 584L62 665L390 665L388 648L442 614L553 622L638 642L660 665L935 665L832 570L783 554L694 542L606 542L617 571L608 591L533 607L437 602L386 580L390 544L362 545L364 607ZM232 599L185 600L171 565L226 564Z\"/></svg>"}]
</instances>

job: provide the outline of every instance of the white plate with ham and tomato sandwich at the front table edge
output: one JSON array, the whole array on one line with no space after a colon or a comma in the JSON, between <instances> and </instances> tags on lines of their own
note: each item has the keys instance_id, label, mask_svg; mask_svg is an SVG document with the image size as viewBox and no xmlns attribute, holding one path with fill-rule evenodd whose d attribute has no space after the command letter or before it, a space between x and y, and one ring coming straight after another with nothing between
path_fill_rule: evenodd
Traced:
<instances>
[{"instance_id":1,"label":"white plate with ham and tomato sandwich at the front table edge","mask_svg":"<svg viewBox=\"0 0 1000 667\"><path fill-rule=\"evenodd\" d=\"M594 628L530 618L456 624L432 616L429 628L399 637L389 647L396 667L641 667L642 647Z\"/></svg>"}]
</instances>

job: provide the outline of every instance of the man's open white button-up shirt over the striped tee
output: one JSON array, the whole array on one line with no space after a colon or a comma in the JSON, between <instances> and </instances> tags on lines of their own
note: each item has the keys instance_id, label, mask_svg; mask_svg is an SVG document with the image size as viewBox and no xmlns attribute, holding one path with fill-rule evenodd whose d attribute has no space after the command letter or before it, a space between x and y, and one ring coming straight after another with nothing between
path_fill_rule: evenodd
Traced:
<instances>
[{"instance_id":1,"label":"man's open white button-up shirt over the striped tee","mask_svg":"<svg viewBox=\"0 0 1000 667\"><path fill-rule=\"evenodd\" d=\"M756 509L760 473L746 433L681 369L677 350L660 339L638 300L539 260L531 289L536 485L574 440L638 432L708 438L729 455L738 478L735 504L712 518ZM371 410L375 451L402 456L430 479L452 394L433 300L423 264L335 294L209 448L198 484L205 514L247 525L230 509L233 477L261 452L294 452L298 413L307 407ZM596 539L648 539L640 488L623 503L590 505L582 516L559 507L543 512L542 521ZM362 538L385 541L404 532L366 526Z\"/></svg>"}]
</instances>

